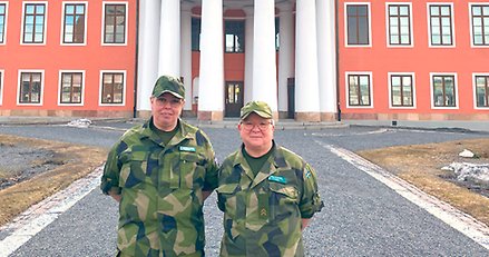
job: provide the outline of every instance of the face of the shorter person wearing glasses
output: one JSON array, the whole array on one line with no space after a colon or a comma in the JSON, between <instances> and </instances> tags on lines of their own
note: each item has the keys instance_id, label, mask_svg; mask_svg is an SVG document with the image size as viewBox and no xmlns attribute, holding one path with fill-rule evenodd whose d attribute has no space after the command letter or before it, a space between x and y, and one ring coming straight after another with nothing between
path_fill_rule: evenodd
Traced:
<instances>
[{"instance_id":1,"label":"face of the shorter person wearing glasses","mask_svg":"<svg viewBox=\"0 0 489 257\"><path fill-rule=\"evenodd\" d=\"M237 126L237 129L247 149L270 149L275 130L271 119L264 119L253 112Z\"/></svg>"}]
</instances>

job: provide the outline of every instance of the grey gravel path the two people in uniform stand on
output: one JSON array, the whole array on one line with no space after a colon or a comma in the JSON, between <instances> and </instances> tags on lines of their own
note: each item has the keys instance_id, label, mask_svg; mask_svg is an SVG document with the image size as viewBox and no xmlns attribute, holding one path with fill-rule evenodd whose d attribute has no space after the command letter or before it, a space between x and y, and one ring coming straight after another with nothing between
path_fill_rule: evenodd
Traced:
<instances>
[{"instance_id":1,"label":"grey gravel path the two people in uniform stand on","mask_svg":"<svg viewBox=\"0 0 489 257\"><path fill-rule=\"evenodd\" d=\"M205 131L221 161L239 146L234 129ZM0 127L0 134L108 148L123 131L28 126ZM488 256L480 245L316 144L359 150L478 137L481 135L376 128L277 131L276 141L303 156L319 174L325 207L304 233L306 256ZM204 210L206 253L213 257L223 231L215 194ZM117 205L96 189L12 256L111 256L116 224Z\"/></svg>"}]
</instances>

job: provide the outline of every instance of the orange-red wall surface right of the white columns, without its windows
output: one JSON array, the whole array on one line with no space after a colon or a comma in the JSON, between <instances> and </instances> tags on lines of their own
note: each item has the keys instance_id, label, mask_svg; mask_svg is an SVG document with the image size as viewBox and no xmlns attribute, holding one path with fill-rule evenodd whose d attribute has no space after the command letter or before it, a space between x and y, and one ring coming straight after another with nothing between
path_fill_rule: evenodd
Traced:
<instances>
[{"instance_id":1,"label":"orange-red wall surface right of the white columns, without its windows","mask_svg":"<svg viewBox=\"0 0 489 257\"><path fill-rule=\"evenodd\" d=\"M371 47L345 47L344 2L370 2ZM389 1L397 2L395 0ZM489 72L489 48L470 47L470 17L468 1L453 3L454 46L452 48L429 48L429 24L427 1L398 1L412 3L413 47L387 47L385 1L339 1L339 85L342 113L376 118L375 113L417 113L422 119L426 113L458 115L488 113L489 110L475 109L472 72ZM432 0L431 2L443 2ZM371 71L374 108L346 108L345 72ZM415 109L389 108L388 72L414 72ZM458 109L432 109L430 72L457 73ZM371 116L369 116L371 115ZM353 117L353 116L352 116ZM432 117L431 117L432 118ZM444 117L447 118L447 117ZM444 119L443 118L443 119Z\"/></svg>"}]
</instances>

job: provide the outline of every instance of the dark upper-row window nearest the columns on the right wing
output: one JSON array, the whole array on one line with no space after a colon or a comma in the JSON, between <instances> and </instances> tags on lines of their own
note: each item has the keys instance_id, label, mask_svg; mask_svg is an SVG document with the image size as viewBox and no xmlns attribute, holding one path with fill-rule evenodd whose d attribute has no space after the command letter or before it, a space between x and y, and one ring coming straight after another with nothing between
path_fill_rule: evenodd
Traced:
<instances>
[{"instance_id":1,"label":"dark upper-row window nearest the columns on the right wing","mask_svg":"<svg viewBox=\"0 0 489 257\"><path fill-rule=\"evenodd\" d=\"M370 46L369 4L346 4L346 42Z\"/></svg>"}]
</instances>

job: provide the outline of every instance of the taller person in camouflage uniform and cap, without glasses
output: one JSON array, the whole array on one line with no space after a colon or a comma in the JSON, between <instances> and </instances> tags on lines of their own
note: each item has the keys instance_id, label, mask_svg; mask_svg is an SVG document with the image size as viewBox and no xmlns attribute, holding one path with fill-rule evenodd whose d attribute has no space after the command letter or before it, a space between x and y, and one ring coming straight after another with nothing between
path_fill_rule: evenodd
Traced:
<instances>
[{"instance_id":1,"label":"taller person in camouflage uniform and cap, without glasses","mask_svg":"<svg viewBox=\"0 0 489 257\"><path fill-rule=\"evenodd\" d=\"M118 256L204 256L203 204L217 187L208 137L182 119L185 89L162 76L151 117L111 148L101 190L119 201Z\"/></svg>"}]
</instances>

